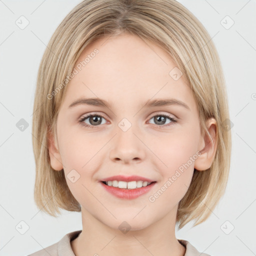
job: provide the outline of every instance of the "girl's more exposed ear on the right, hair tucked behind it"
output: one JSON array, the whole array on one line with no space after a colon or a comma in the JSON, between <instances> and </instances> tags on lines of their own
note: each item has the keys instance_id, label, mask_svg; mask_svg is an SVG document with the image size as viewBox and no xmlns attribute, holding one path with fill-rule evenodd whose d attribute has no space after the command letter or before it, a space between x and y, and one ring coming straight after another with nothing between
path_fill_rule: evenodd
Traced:
<instances>
[{"instance_id":1,"label":"girl's more exposed ear on the right, hair tucked behind it","mask_svg":"<svg viewBox=\"0 0 256 256\"><path fill-rule=\"evenodd\" d=\"M194 168L199 171L206 170L211 166L217 148L217 122L215 118L207 119L205 124L210 136L207 133L204 137L201 136L198 148L201 154L194 161Z\"/></svg>"}]
</instances>

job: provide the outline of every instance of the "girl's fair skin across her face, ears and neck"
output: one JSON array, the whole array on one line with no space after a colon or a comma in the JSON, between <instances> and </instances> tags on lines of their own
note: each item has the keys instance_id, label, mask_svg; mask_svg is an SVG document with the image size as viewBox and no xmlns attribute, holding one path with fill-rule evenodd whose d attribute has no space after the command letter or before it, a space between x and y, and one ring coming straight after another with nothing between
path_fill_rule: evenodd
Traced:
<instances>
[{"instance_id":1,"label":"girl's fair skin across her face, ears and neck","mask_svg":"<svg viewBox=\"0 0 256 256\"><path fill-rule=\"evenodd\" d=\"M188 82L184 75L178 80L169 75L176 65L157 45L128 34L104 37L86 47L76 64L95 48L99 52L66 88L55 143L49 138L51 167L56 171L63 168L65 176L72 169L80 175L74 183L66 177L81 205L82 232L71 241L74 254L184 255L185 248L175 237L177 206L188 190L194 168L206 170L213 161L216 121L210 118L206 122L214 139L202 137ZM101 98L112 105L68 107L81 97ZM162 98L181 100L189 109L181 105L142 107L146 100ZM87 118L83 123L92 128L80 125L78 120L90 113L94 118L103 115L101 122ZM157 122L161 114L177 122L168 117L165 122ZM126 131L118 126L123 118L131 123ZM148 197L197 151L201 154L150 202ZM118 174L141 175L156 184L138 198L120 199L99 183L104 177ZM118 228L123 221L131 226L126 233Z\"/></svg>"}]
</instances>

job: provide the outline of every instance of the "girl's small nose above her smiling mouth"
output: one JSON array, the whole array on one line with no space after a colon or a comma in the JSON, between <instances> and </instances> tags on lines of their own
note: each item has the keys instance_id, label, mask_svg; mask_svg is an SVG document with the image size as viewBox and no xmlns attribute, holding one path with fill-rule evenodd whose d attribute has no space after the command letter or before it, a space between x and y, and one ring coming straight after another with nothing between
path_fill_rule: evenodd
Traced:
<instances>
[{"instance_id":1,"label":"girl's small nose above her smiling mouth","mask_svg":"<svg viewBox=\"0 0 256 256\"><path fill-rule=\"evenodd\" d=\"M112 147L109 152L112 161L123 163L141 162L145 157L145 145L139 139L138 132L134 133L132 126L123 131L118 127L117 134L113 137Z\"/></svg>"}]
</instances>

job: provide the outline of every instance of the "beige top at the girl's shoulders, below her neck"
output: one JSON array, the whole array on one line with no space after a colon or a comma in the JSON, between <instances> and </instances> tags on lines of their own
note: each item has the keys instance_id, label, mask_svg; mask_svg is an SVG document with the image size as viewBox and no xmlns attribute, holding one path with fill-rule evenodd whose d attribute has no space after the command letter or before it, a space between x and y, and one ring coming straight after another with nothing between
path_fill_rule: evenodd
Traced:
<instances>
[{"instance_id":1,"label":"beige top at the girl's shoulders, below her neck","mask_svg":"<svg viewBox=\"0 0 256 256\"><path fill-rule=\"evenodd\" d=\"M35 251L28 256L75 256L70 241L78 236L82 230L76 230L65 234L58 242ZM206 253L200 253L191 243L186 240L177 239L180 244L186 247L184 256L210 256Z\"/></svg>"}]
</instances>

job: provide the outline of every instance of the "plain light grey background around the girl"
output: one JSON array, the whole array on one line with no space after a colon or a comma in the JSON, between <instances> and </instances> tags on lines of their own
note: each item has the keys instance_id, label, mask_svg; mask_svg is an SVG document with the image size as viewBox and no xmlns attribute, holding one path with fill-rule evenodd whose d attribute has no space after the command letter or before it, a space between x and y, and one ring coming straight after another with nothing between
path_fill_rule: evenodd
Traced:
<instances>
[{"instance_id":1,"label":"plain light grey background around the girl","mask_svg":"<svg viewBox=\"0 0 256 256\"><path fill-rule=\"evenodd\" d=\"M82 228L80 213L63 210L62 216L54 218L36 208L31 140L39 61L57 25L79 2L0 0L0 256L27 255ZM233 127L225 195L207 221L193 228L192 223L187 224L176 231L176 237L188 240L199 251L212 256L255 255L256 2L179 2L202 22L216 45ZM24 29L15 24L21 15L29 21ZM226 28L231 20L226 15L234 21L229 29ZM16 126L21 118L28 123L23 131ZM20 221L29 226L24 234L19 232L25 228ZM232 226L234 229L226 234Z\"/></svg>"}]
</instances>

